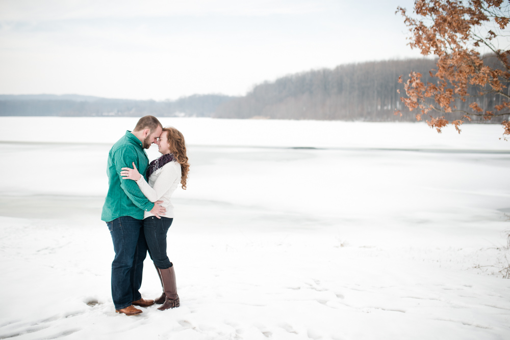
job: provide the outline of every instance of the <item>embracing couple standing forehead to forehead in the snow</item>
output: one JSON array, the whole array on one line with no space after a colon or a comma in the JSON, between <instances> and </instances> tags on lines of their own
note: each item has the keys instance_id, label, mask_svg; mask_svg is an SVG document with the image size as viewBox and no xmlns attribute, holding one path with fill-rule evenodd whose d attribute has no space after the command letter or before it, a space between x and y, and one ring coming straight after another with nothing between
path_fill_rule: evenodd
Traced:
<instances>
[{"instance_id":1,"label":"embracing couple standing forehead to forehead in the snow","mask_svg":"<svg viewBox=\"0 0 510 340\"><path fill-rule=\"evenodd\" d=\"M145 149L157 144L162 156L149 163ZM182 185L186 189L189 164L181 132L163 128L156 117L142 117L133 131L126 131L108 155L108 194L101 219L113 240L112 297L115 311L137 315L147 307L179 307L173 264L166 254L166 234L173 221L170 196ZM163 286L156 300L145 300L142 284L147 251Z\"/></svg>"}]
</instances>

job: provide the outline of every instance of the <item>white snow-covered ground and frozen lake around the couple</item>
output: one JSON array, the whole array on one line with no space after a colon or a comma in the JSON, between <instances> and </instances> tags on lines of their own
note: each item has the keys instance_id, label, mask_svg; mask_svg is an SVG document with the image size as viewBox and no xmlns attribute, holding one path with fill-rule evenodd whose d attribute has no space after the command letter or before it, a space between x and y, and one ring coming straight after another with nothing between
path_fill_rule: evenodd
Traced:
<instances>
[{"instance_id":1,"label":"white snow-covered ground and frozen lake around the couple","mask_svg":"<svg viewBox=\"0 0 510 340\"><path fill-rule=\"evenodd\" d=\"M135 123L0 118L0 338L510 338L500 126L162 119L191 163L169 231L181 306L126 317L100 210ZM147 259L142 295L160 293Z\"/></svg>"}]
</instances>

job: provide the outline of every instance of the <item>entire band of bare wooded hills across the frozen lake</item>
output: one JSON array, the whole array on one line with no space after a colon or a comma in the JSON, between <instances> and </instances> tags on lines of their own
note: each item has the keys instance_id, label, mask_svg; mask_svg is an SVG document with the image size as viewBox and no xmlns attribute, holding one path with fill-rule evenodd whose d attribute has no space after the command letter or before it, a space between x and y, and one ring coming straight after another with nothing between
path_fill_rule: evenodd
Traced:
<instances>
[{"instance_id":1,"label":"entire band of bare wooded hills across the frozen lake","mask_svg":"<svg viewBox=\"0 0 510 340\"><path fill-rule=\"evenodd\" d=\"M490 62L490 59L488 59ZM420 72L424 83L434 82L432 59L405 59L340 65L290 74L266 81L243 97L192 95L174 101L106 99L80 95L0 95L0 116L124 116L311 119L344 121L415 121L402 103L403 83L410 72ZM510 83L506 84L510 95ZM501 98L478 97L471 88L469 100L455 105L468 110L473 102L486 110ZM395 115L395 110L402 115ZM459 114L448 114L457 119ZM427 119L426 116L424 116ZM481 117L473 121L481 122ZM490 123L500 123L502 117Z\"/></svg>"}]
</instances>

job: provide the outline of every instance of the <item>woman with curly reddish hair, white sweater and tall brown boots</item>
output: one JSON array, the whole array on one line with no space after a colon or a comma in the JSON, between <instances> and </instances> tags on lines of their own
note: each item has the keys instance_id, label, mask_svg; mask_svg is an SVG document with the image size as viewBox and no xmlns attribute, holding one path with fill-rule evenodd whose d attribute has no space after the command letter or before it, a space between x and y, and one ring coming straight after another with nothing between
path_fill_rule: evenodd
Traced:
<instances>
[{"instance_id":1,"label":"woman with curly reddish hair, white sweater and tall brown boots","mask_svg":"<svg viewBox=\"0 0 510 340\"><path fill-rule=\"evenodd\" d=\"M123 167L120 175L124 176L123 179L136 181L150 202L163 201L161 206L166 208L164 217L158 218L148 211L144 212L143 217L143 232L149 256L158 270L163 286L163 294L155 302L163 304L158 309L165 310L180 305L173 264L166 254L166 234L173 221L173 205L170 202L170 196L179 183L186 190L190 166L186 156L184 137L177 129L164 128L156 144L163 156L150 162L147 168L148 183L138 173L134 163L133 169Z\"/></svg>"}]
</instances>

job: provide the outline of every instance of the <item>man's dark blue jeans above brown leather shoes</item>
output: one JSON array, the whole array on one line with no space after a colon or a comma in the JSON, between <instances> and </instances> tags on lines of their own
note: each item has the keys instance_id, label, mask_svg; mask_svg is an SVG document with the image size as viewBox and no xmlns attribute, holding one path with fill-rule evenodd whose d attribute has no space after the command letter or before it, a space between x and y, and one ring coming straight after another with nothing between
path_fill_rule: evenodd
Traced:
<instances>
[{"instance_id":1,"label":"man's dark blue jeans above brown leather shoes","mask_svg":"<svg viewBox=\"0 0 510 340\"><path fill-rule=\"evenodd\" d=\"M142 285L143 260L147 256L143 220L121 216L106 224L115 250L112 298L115 309L122 309L142 297L138 290Z\"/></svg>"}]
</instances>

